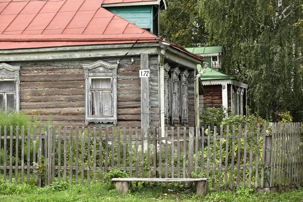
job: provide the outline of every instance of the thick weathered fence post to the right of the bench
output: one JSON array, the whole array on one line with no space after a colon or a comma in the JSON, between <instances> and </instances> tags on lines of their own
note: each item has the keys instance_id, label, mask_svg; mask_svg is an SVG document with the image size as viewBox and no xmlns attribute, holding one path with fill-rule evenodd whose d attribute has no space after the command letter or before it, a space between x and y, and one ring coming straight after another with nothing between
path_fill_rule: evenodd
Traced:
<instances>
[{"instance_id":1,"label":"thick weathered fence post to the right of the bench","mask_svg":"<svg viewBox=\"0 0 303 202\"><path fill-rule=\"evenodd\" d=\"M264 127L266 127L266 125L264 125ZM264 166L265 168L267 168L266 170L266 178L264 179L264 188L265 191L268 192L270 191L270 165L271 165L271 153L272 153L272 134L266 134L265 136L265 162L264 162Z\"/></svg>"}]
</instances>

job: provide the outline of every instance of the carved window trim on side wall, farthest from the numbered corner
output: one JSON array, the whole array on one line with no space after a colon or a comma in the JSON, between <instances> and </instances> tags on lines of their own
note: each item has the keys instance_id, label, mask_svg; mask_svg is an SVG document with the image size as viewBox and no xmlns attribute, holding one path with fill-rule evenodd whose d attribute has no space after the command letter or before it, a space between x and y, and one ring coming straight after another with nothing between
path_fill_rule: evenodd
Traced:
<instances>
[{"instance_id":1,"label":"carved window trim on side wall, farthest from the numbered corner","mask_svg":"<svg viewBox=\"0 0 303 202\"><path fill-rule=\"evenodd\" d=\"M188 76L187 70L181 72L181 122L188 123Z\"/></svg>"}]
</instances>

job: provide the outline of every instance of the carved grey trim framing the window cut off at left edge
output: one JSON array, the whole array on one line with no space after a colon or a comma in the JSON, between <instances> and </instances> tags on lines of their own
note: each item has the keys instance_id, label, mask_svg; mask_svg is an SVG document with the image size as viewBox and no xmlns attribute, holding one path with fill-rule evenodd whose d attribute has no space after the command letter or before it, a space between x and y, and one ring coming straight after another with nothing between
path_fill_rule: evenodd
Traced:
<instances>
[{"instance_id":1,"label":"carved grey trim framing the window cut off at left edge","mask_svg":"<svg viewBox=\"0 0 303 202\"><path fill-rule=\"evenodd\" d=\"M4 95L14 93L14 111L19 112L20 109L20 66L11 66L6 63L0 64L0 82L1 81L14 81L14 91L5 92L1 91ZM6 98L4 98L6 99ZM7 105L5 106L5 112L8 112Z\"/></svg>"}]
</instances>

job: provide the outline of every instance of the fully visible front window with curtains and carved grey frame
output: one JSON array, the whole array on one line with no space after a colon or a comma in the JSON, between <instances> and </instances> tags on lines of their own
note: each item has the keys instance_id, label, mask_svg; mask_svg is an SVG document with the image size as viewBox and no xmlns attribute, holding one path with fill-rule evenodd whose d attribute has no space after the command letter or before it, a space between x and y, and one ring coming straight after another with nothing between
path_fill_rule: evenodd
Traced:
<instances>
[{"instance_id":1,"label":"fully visible front window with curtains and carved grey frame","mask_svg":"<svg viewBox=\"0 0 303 202\"><path fill-rule=\"evenodd\" d=\"M85 76L85 124L117 124L118 65L98 61L83 65Z\"/></svg>"}]
</instances>

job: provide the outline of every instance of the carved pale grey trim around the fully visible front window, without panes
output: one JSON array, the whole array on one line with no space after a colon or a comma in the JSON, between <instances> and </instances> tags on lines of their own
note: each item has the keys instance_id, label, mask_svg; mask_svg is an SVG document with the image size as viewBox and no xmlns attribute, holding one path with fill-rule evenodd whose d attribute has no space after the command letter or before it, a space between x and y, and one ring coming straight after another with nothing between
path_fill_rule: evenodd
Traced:
<instances>
[{"instance_id":1,"label":"carved pale grey trim around the fully visible front window, without panes","mask_svg":"<svg viewBox=\"0 0 303 202\"><path fill-rule=\"evenodd\" d=\"M85 124L88 123L114 123L117 124L117 68L116 64L97 61L92 64L82 65L85 77ZM112 84L112 115L96 116L90 115L92 110L91 82L92 79L111 78Z\"/></svg>"}]
</instances>

